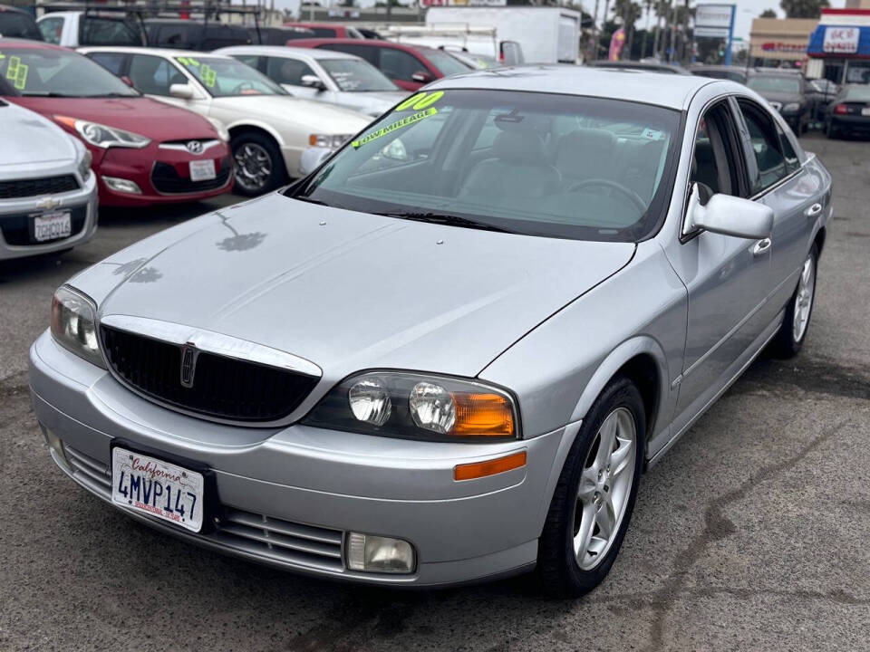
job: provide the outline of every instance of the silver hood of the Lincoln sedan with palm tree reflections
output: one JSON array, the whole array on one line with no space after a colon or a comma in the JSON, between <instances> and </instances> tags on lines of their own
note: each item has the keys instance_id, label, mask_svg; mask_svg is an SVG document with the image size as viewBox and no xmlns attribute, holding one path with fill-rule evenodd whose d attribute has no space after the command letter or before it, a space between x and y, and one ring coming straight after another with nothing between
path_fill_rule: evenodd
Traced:
<instances>
[{"instance_id":1,"label":"silver hood of the Lincoln sedan with palm tree reflections","mask_svg":"<svg viewBox=\"0 0 870 652\"><path fill-rule=\"evenodd\" d=\"M333 380L372 368L476 376L635 248L411 222L278 194L176 229L73 285L102 316L264 344Z\"/></svg>"}]
</instances>

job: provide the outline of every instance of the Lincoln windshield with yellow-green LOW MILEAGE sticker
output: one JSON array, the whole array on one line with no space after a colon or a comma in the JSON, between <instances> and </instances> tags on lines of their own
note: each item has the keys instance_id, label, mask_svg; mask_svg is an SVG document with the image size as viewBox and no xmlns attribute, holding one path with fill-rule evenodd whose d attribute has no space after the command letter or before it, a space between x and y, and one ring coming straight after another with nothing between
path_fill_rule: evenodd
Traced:
<instances>
[{"instance_id":1,"label":"Lincoln windshield with yellow-green LOW MILEAGE sticker","mask_svg":"<svg viewBox=\"0 0 870 652\"><path fill-rule=\"evenodd\" d=\"M679 113L537 92L423 91L292 197L526 235L631 242L663 216Z\"/></svg>"}]
</instances>

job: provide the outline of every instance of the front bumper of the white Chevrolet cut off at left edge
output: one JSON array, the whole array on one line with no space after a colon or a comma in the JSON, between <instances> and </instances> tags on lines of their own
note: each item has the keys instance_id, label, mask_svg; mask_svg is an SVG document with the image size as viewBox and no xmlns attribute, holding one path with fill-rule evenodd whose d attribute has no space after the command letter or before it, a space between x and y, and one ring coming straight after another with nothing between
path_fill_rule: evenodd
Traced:
<instances>
[{"instance_id":1,"label":"front bumper of the white Chevrolet cut off at left edge","mask_svg":"<svg viewBox=\"0 0 870 652\"><path fill-rule=\"evenodd\" d=\"M82 187L51 195L59 202L52 211L69 210L73 215L73 233L61 240L31 244L27 221L46 209L39 204L44 195L0 200L0 260L50 254L88 242L97 230L96 175L91 174Z\"/></svg>"}]
</instances>

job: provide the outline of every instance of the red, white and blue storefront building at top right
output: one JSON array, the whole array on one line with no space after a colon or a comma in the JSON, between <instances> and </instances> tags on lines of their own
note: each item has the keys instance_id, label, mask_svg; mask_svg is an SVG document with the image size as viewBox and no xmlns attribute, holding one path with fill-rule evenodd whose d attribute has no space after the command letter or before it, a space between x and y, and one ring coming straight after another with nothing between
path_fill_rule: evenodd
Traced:
<instances>
[{"instance_id":1,"label":"red, white and blue storefront building at top right","mask_svg":"<svg viewBox=\"0 0 870 652\"><path fill-rule=\"evenodd\" d=\"M807 55L808 76L870 83L870 9L823 9Z\"/></svg>"}]
</instances>

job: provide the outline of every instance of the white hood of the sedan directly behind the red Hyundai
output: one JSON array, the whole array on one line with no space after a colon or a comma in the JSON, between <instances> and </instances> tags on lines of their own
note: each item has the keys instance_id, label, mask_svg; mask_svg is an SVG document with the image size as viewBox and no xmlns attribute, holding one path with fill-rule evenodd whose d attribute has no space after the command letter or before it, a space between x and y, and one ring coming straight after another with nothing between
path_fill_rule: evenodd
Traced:
<instances>
[{"instance_id":1,"label":"white hood of the sedan directly behind the red Hyundai","mask_svg":"<svg viewBox=\"0 0 870 652\"><path fill-rule=\"evenodd\" d=\"M372 119L355 110L326 102L303 100L289 95L238 95L214 98L212 106L237 114L238 119L259 118L281 129L311 133L355 134ZM232 124L231 120L227 120Z\"/></svg>"}]
</instances>

